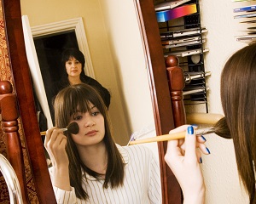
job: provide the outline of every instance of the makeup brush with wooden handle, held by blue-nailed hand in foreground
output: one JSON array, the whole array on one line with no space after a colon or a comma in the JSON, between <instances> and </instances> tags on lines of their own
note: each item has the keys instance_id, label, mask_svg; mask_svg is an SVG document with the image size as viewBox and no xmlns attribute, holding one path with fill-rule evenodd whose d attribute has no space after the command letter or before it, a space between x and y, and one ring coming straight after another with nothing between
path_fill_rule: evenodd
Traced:
<instances>
[{"instance_id":1,"label":"makeup brush with wooden handle, held by blue-nailed hand in foreground","mask_svg":"<svg viewBox=\"0 0 256 204\"><path fill-rule=\"evenodd\" d=\"M230 129L227 126L227 123L224 117L218 120L218 122L216 122L213 127L206 127L206 128L195 130L195 134L202 135L202 134L208 134L208 133L216 133L218 134L218 136L224 139L231 139ZM156 136L154 138L138 139L138 140L130 141L129 145L151 143L151 142L162 142L162 141L167 141L172 139L184 139L185 135L186 135L185 131L180 133L164 134L164 135Z\"/></svg>"}]
</instances>

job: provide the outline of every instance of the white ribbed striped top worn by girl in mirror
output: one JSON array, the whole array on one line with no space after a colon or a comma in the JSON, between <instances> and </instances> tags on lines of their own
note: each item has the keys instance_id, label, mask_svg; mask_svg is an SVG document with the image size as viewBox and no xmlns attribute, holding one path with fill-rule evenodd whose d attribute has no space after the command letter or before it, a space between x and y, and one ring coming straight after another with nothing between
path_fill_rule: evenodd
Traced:
<instances>
[{"instance_id":1,"label":"white ribbed striped top worn by girl in mirror","mask_svg":"<svg viewBox=\"0 0 256 204\"><path fill-rule=\"evenodd\" d=\"M83 188L89 199L84 201L77 198L73 187L72 191L65 191L54 186L57 203L161 204L160 166L153 152L139 144L117 146L125 162L123 186L104 189L103 179L96 179L84 173ZM49 173L51 175L51 168Z\"/></svg>"}]
</instances>

